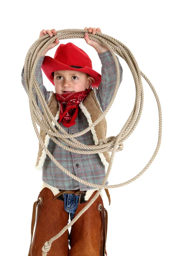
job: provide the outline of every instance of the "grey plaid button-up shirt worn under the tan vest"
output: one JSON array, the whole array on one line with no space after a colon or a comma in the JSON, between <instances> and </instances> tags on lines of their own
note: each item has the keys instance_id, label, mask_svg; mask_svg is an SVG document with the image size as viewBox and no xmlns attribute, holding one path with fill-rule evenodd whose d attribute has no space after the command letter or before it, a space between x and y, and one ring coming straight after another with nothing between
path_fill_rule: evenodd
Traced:
<instances>
[{"instance_id":1,"label":"grey plaid button-up shirt worn under the tan vest","mask_svg":"<svg viewBox=\"0 0 170 256\"><path fill-rule=\"evenodd\" d=\"M99 84L96 94L102 110L105 111L105 109L108 107L113 97L113 92L116 86L116 65L110 51L106 51L98 55L102 63L102 81ZM41 66L42 66L43 60L44 60L44 56L40 57L35 70L35 76L37 79L37 83L40 86L40 90L44 95L46 102L48 102L50 92L46 90L42 81ZM123 70L120 62L119 62L119 67L120 67L120 83L121 83ZM24 80L24 67L23 67L21 76L22 76L21 81L22 81L23 87L26 90L26 84ZM34 88L33 88L33 91L34 91ZM37 104L40 110L42 111L40 102L37 99L37 95L35 92L34 92L34 97L37 100ZM80 108L77 114L77 119L75 121L76 121L76 124L71 127L65 127L64 125L62 125L62 122L60 123L60 125L65 131L68 132L68 134L78 133L80 131L83 131L85 128L89 126L88 120ZM59 132L63 134L61 131ZM94 145L94 140L93 140L91 131L88 131L87 133L77 137L76 139L85 145ZM62 144L66 145L65 143L62 143ZM62 166L64 166L65 169L67 169L72 174L88 182L95 183L95 184L102 184L102 181L104 180L106 173L105 173L105 166L103 165L99 157L99 154L73 153L65 150L64 148L59 147L59 145L54 143L54 141L51 139L49 140L48 150L51 152L53 157ZM48 157L48 155L45 158L45 162L42 167L42 180L45 183L48 183L49 185L59 189L65 189L65 190L80 189L80 191L94 189L94 187L86 186L85 184L79 183L77 180L74 180L68 175L66 175L64 172L62 172L62 170L58 166L55 165L55 163L50 159L50 157ZM105 183L105 185L108 185L108 180Z\"/></svg>"}]
</instances>

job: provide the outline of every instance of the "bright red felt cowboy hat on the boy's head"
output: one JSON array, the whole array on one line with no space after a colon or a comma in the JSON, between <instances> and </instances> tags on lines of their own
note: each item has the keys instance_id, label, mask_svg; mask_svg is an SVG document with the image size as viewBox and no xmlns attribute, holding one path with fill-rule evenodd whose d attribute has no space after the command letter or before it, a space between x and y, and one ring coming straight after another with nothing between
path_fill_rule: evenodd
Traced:
<instances>
[{"instance_id":1,"label":"bright red felt cowboy hat on the boy's head","mask_svg":"<svg viewBox=\"0 0 170 256\"><path fill-rule=\"evenodd\" d=\"M55 52L54 58L45 56L42 63L42 70L53 85L55 85L53 72L57 70L74 70L87 73L95 79L91 85L92 87L98 87L102 77L92 69L89 56L72 43L60 44Z\"/></svg>"}]
</instances>

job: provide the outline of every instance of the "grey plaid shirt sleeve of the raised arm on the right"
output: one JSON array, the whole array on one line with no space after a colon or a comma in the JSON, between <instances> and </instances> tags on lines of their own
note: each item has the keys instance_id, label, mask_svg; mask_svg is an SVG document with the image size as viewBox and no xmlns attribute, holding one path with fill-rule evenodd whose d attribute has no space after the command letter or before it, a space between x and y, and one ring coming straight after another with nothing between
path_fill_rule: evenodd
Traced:
<instances>
[{"instance_id":1,"label":"grey plaid shirt sleeve of the raised arm on the right","mask_svg":"<svg viewBox=\"0 0 170 256\"><path fill-rule=\"evenodd\" d=\"M100 105L104 112L113 97L113 93L116 87L116 77L117 77L116 64L109 50L100 54L98 53L98 55L102 63L102 80L96 91L96 95L97 95L97 98L99 99ZM116 58L118 59L117 56ZM120 62L119 62L119 67L120 67L120 83L119 83L119 86L120 86L122 82L122 73L123 73L123 69Z\"/></svg>"}]
</instances>

